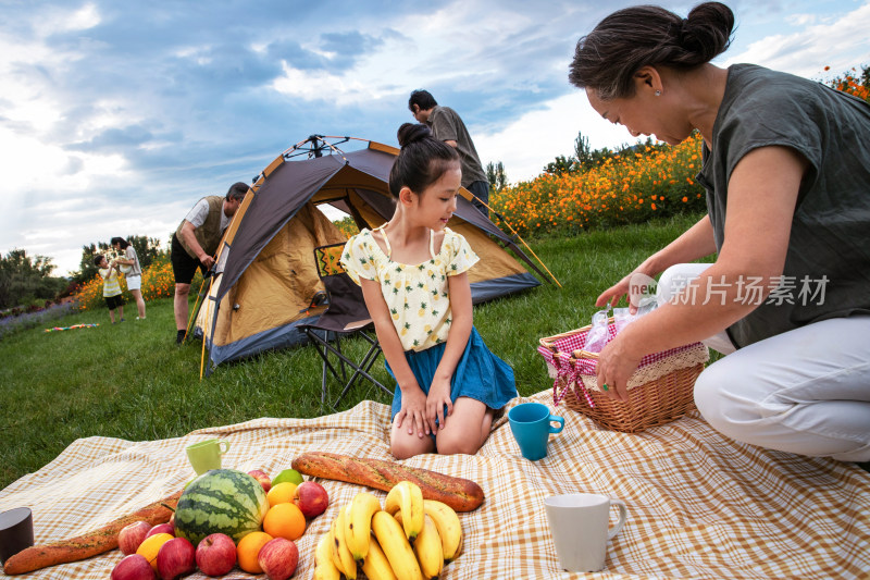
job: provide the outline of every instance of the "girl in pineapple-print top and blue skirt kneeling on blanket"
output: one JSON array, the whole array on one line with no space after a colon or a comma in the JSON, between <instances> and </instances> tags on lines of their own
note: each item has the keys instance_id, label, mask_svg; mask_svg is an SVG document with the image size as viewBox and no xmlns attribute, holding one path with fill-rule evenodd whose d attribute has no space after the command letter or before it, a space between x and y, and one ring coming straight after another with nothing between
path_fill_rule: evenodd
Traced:
<instances>
[{"instance_id":1,"label":"girl in pineapple-print top and blue skirt kneeling on blanket","mask_svg":"<svg viewBox=\"0 0 870 580\"><path fill-rule=\"evenodd\" d=\"M478 258L447 227L462 177L459 156L426 125L406 123L398 138L401 152L389 172L396 212L350 238L341 264L362 287L397 382L393 455L474 454L495 411L517 396L513 371L472 325L467 272Z\"/></svg>"}]
</instances>

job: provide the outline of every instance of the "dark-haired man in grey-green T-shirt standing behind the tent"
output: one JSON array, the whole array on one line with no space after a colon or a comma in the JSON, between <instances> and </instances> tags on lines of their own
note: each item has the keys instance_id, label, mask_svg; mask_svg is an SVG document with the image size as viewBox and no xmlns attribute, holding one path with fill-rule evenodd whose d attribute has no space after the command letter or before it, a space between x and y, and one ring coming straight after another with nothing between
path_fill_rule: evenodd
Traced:
<instances>
[{"instance_id":1,"label":"dark-haired man in grey-green T-shirt standing behind the tent","mask_svg":"<svg viewBox=\"0 0 870 580\"><path fill-rule=\"evenodd\" d=\"M413 113L418 123L425 123L432 129L436 139L456 148L459 152L459 163L462 168L462 187L471 192L474 197L489 205L489 183L486 172L481 165L477 150L471 140L469 129L459 114L449 107L440 107L428 90L414 90L408 99L408 109ZM489 215L486 206L475 199L475 208L484 215Z\"/></svg>"}]
</instances>

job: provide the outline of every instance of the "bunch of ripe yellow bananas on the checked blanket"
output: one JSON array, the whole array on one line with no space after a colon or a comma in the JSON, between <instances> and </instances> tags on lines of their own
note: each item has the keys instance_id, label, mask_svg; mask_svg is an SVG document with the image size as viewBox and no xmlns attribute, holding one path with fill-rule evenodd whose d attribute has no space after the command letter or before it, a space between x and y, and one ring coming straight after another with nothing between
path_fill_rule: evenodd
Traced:
<instances>
[{"instance_id":1,"label":"bunch of ripe yellow bananas on the checked blanket","mask_svg":"<svg viewBox=\"0 0 870 580\"><path fill-rule=\"evenodd\" d=\"M420 488L401 481L386 505L358 493L338 510L314 555L314 579L356 580L357 567L369 580L431 580L459 555L462 527L452 508L423 499Z\"/></svg>"}]
</instances>

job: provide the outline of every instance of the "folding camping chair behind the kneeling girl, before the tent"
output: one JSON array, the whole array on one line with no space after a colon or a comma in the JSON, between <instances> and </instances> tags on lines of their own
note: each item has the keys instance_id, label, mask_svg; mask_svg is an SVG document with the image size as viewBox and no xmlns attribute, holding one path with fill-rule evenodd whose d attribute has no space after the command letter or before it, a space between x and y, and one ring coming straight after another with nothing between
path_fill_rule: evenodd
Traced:
<instances>
[{"instance_id":1,"label":"folding camping chair behind the kneeling girl, before the tent","mask_svg":"<svg viewBox=\"0 0 870 580\"><path fill-rule=\"evenodd\" d=\"M339 261L344 247L344 244L333 244L314 248L318 275L326 288L328 306L315 322L302 326L311 344L316 347L318 354L323 359L321 404L326 402L326 384L330 375L344 384L341 394L332 405L333 409L338 407L360 377L380 386L385 393L393 394L390 388L369 374L372 365L377 360L377 355L381 354L381 345L374 332L374 323L365 308L362 288L350 280ZM358 335L369 343L369 349L359 361L352 360L341 350L343 337L352 335ZM335 362L331 355L335 355L337 359ZM352 374L348 378L351 369Z\"/></svg>"}]
</instances>

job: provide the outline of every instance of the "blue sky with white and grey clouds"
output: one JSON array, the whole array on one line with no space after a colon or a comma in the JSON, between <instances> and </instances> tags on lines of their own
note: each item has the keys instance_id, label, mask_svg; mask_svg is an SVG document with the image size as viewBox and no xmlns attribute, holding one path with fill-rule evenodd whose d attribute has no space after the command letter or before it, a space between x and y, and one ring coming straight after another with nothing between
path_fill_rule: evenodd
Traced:
<instances>
[{"instance_id":1,"label":"blue sky with white and grey clouds","mask_svg":"<svg viewBox=\"0 0 870 580\"><path fill-rule=\"evenodd\" d=\"M0 254L171 233L312 134L396 145L411 90L455 109L508 181L633 141L568 83L611 0L0 0ZM636 2L635 2L636 3ZM661 5L685 15L695 2ZM732 0L714 61L813 79L870 63L870 0ZM825 73L824 66L831 72Z\"/></svg>"}]
</instances>

